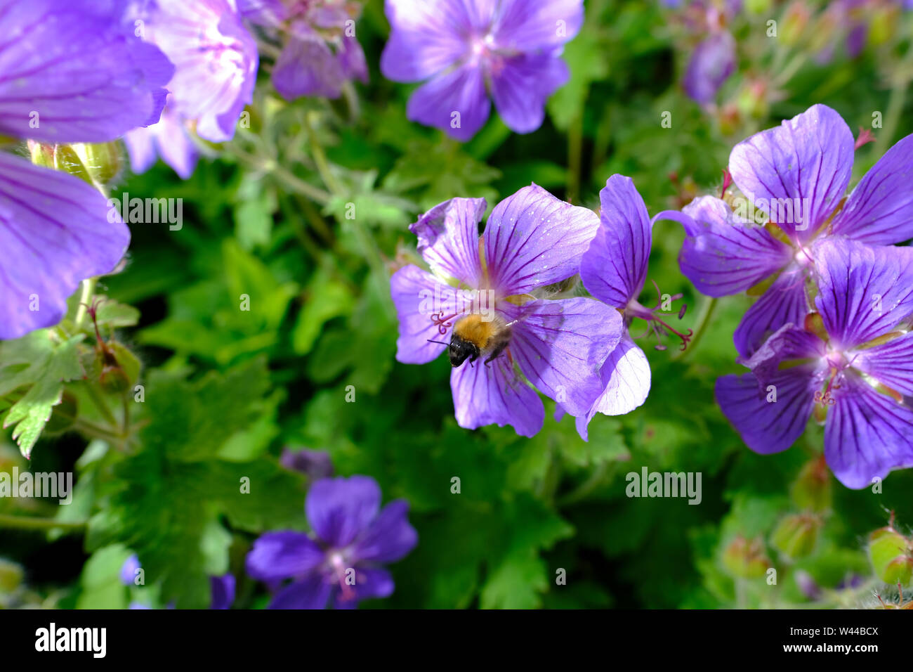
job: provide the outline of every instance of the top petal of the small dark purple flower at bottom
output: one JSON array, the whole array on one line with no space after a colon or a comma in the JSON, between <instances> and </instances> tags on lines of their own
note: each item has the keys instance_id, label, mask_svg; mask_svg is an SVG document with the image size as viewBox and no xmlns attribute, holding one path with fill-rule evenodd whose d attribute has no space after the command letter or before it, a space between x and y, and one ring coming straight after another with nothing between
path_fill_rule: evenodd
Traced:
<instances>
[{"instance_id":1,"label":"top petal of the small dark purple flower at bottom","mask_svg":"<svg viewBox=\"0 0 913 672\"><path fill-rule=\"evenodd\" d=\"M377 517L381 488L370 476L322 478L310 486L304 507L317 536L340 549L351 544Z\"/></svg>"}]
</instances>

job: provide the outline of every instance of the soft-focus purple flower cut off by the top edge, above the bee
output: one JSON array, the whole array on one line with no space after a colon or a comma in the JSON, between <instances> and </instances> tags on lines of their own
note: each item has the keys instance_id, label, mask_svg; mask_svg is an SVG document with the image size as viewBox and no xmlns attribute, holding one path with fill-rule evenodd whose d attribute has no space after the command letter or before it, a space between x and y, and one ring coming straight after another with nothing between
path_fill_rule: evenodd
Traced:
<instances>
[{"instance_id":1,"label":"soft-focus purple flower cut off by the top edge, above the bee","mask_svg":"<svg viewBox=\"0 0 913 672\"><path fill-rule=\"evenodd\" d=\"M390 41L384 77L427 81L409 100L409 119L466 141L488 120L531 133L545 101L570 77L561 51L583 23L582 0L386 0Z\"/></svg>"}]
</instances>

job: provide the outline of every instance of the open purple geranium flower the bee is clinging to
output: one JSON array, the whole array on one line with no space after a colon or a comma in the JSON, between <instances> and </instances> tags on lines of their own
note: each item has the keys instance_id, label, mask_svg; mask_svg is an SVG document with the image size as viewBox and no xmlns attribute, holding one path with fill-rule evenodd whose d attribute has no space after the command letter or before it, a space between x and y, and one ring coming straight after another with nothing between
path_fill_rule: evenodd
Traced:
<instances>
[{"instance_id":1,"label":"open purple geranium flower the bee is clinging to","mask_svg":"<svg viewBox=\"0 0 913 672\"><path fill-rule=\"evenodd\" d=\"M545 409L527 380L565 411L586 414L602 391L599 371L621 338L622 319L593 299L534 294L579 271L599 227L591 210L536 185L523 187L498 203L480 238L485 210L484 198L453 198L409 228L436 274L408 265L391 278L399 317L396 358L406 364L435 359L466 315L509 325L509 343L490 364L479 358L453 369L456 421L467 429L509 424L532 436Z\"/></svg>"}]
</instances>

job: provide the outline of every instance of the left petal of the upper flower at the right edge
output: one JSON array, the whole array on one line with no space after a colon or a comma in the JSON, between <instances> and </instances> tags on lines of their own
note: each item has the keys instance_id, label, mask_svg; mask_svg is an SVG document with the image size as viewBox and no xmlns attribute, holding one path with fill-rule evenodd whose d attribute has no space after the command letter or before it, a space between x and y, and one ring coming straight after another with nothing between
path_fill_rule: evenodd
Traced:
<instances>
[{"instance_id":1,"label":"left petal of the upper flower at the right edge","mask_svg":"<svg viewBox=\"0 0 913 672\"><path fill-rule=\"evenodd\" d=\"M700 293L744 292L791 261L788 245L763 227L740 222L719 198L696 198L683 211L694 225L686 227L678 264Z\"/></svg>"}]
</instances>

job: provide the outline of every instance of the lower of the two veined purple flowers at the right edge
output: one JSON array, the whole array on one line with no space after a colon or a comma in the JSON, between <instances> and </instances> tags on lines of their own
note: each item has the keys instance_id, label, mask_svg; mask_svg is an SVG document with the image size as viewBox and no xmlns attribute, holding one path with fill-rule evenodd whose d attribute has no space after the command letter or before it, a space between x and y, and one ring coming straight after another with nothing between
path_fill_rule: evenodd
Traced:
<instances>
[{"instance_id":1,"label":"lower of the two veined purple flowers at the right edge","mask_svg":"<svg viewBox=\"0 0 913 672\"><path fill-rule=\"evenodd\" d=\"M751 373L717 381L717 401L764 454L789 448L818 406L828 466L862 488L913 466L913 249L832 238L813 252L826 333L782 326L742 360Z\"/></svg>"}]
</instances>

